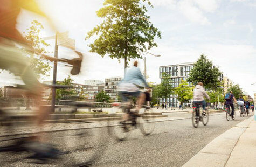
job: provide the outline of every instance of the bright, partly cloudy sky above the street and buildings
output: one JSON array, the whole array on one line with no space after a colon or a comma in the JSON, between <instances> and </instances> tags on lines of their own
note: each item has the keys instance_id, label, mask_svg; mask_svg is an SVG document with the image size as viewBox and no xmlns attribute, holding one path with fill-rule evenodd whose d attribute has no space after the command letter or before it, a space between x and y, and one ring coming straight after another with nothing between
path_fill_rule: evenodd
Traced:
<instances>
[{"instance_id":1,"label":"bright, partly cloudy sky above the street and buildings","mask_svg":"<svg viewBox=\"0 0 256 167\"><path fill-rule=\"evenodd\" d=\"M79 75L71 76L75 83L86 79L104 81L107 77L123 76L124 62L89 52L88 44L96 37L85 41L88 31L102 23L96 11L103 6L103 0L38 0L43 10L59 32L69 31L75 39L75 47L85 54ZM207 55L213 64L220 67L224 76L238 83L244 91L253 96L256 91L256 2L250 0L151 0L154 8L148 6L147 15L151 23L162 32L162 39L155 39L158 47L147 54L148 81L160 83L159 66L197 61L200 54ZM18 18L17 29L24 32L33 19L41 22L45 29L42 36L52 36L54 30L46 19L27 11ZM54 41L48 48L53 51ZM59 47L59 57L72 57L73 53ZM131 61L132 62L132 61ZM141 71L143 60L139 60ZM68 76L69 67L58 66L57 80ZM4 72L1 77L12 82L12 75ZM50 76L43 80L51 80ZM4 83L3 83L4 82Z\"/></svg>"}]
</instances>

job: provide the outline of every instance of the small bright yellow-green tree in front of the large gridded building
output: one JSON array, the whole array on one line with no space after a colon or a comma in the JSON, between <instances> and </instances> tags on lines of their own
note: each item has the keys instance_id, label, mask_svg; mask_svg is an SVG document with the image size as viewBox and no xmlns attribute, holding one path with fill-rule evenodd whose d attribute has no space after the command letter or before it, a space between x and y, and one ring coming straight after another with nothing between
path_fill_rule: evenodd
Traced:
<instances>
[{"instance_id":1,"label":"small bright yellow-green tree in front of the large gridded building","mask_svg":"<svg viewBox=\"0 0 256 167\"><path fill-rule=\"evenodd\" d=\"M193 87L189 86L189 83L183 79L179 86L174 88L174 92L178 95L177 99L181 102L182 106L184 102L189 102L193 98Z\"/></svg>"}]
</instances>

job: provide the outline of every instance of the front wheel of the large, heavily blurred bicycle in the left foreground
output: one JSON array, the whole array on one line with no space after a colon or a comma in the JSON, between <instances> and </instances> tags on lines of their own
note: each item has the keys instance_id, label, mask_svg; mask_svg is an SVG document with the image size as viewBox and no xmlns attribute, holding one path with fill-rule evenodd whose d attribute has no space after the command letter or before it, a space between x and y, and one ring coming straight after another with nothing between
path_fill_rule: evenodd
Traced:
<instances>
[{"instance_id":1,"label":"front wheel of the large, heavily blurred bicycle in the left foreground","mask_svg":"<svg viewBox=\"0 0 256 167\"><path fill-rule=\"evenodd\" d=\"M100 122L84 129L82 126L65 131L54 131L48 135L49 142L59 150L58 159L51 159L50 166L88 166L92 165L107 148L106 128ZM79 124L78 124L79 125Z\"/></svg>"}]
</instances>

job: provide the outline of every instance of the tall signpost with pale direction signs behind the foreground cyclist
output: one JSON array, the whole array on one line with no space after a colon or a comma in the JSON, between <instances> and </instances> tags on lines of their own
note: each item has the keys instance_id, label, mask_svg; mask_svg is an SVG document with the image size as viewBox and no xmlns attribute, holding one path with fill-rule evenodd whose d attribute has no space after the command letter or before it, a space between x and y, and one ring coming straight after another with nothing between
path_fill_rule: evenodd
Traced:
<instances>
[{"instance_id":1,"label":"tall signpost with pale direction signs behind the foreground cyclist","mask_svg":"<svg viewBox=\"0 0 256 167\"><path fill-rule=\"evenodd\" d=\"M44 40L50 40L50 39L55 39L54 58L58 58L59 45L63 47L71 48L72 50L75 49L75 40L68 38L68 31L63 33L56 32L55 36L44 38ZM57 63L58 61L54 60L53 79L52 79L53 85L56 85ZM56 88L52 87L52 103L51 103L52 112L55 112L55 98L56 98Z\"/></svg>"}]
</instances>

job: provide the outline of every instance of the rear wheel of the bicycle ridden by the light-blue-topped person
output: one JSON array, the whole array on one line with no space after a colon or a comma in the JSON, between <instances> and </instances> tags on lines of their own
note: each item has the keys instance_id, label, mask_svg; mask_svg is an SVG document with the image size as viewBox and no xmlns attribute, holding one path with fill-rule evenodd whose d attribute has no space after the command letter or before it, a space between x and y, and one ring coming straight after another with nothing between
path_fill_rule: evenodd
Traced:
<instances>
[{"instance_id":1,"label":"rear wheel of the bicycle ridden by the light-blue-topped person","mask_svg":"<svg viewBox=\"0 0 256 167\"><path fill-rule=\"evenodd\" d=\"M112 113L109 115L108 120L108 133L117 141L123 141L128 138L130 135L131 125L130 121L121 122L118 113L122 113L122 107L113 107L113 110L116 110L117 113Z\"/></svg>"}]
</instances>

